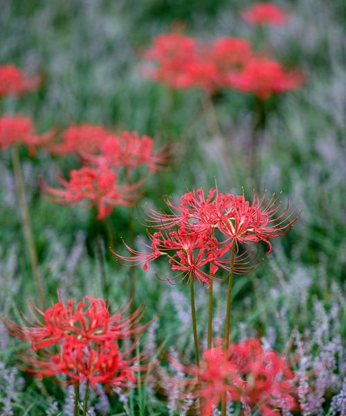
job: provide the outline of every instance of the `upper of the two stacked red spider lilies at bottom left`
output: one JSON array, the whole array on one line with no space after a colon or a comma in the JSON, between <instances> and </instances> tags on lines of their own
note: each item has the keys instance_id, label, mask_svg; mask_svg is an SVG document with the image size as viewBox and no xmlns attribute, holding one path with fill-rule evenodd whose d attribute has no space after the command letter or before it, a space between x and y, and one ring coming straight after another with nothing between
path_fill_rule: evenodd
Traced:
<instances>
[{"instance_id":1,"label":"upper of the two stacked red spider lilies at bottom left","mask_svg":"<svg viewBox=\"0 0 346 416\"><path fill-rule=\"evenodd\" d=\"M53 304L46 311L31 304L31 318L23 314L29 326L19 325L5 320L12 336L30 342L34 351L51 347L57 342L64 342L67 337L74 336L81 342L118 340L129 338L143 331L147 324L138 325L143 317L143 309L139 308L129 316L125 316L128 306L120 308L116 313L109 312L109 306L102 299L85 296L82 302L75 304L73 300Z\"/></svg>"}]
</instances>

